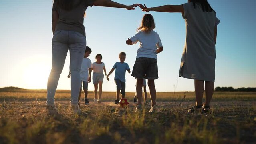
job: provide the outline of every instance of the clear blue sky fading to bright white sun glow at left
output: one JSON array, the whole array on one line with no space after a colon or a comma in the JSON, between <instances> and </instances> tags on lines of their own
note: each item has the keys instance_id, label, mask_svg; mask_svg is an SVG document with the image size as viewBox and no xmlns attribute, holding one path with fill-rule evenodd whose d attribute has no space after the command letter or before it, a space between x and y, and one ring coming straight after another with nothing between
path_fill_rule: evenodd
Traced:
<instances>
[{"instance_id":1,"label":"clear blue sky fading to bright white sun glow at left","mask_svg":"<svg viewBox=\"0 0 256 144\"><path fill-rule=\"evenodd\" d=\"M148 7L178 5L187 0L115 0L123 4L142 3ZM216 43L215 86L256 87L256 0L208 0L220 19ZM52 63L52 0L0 0L0 87L46 89ZM185 22L178 13L149 12L155 18L163 52L158 54L157 92L194 91L194 80L178 78L185 41ZM84 20L87 46L95 61L103 55L107 73L119 52L126 52L133 68L139 44L128 46L145 14L140 8L89 7ZM69 54L58 89L70 89ZM114 73L103 81L103 91L115 91ZM93 90L93 84L89 84ZM126 74L126 91L135 92L135 79Z\"/></svg>"}]
</instances>

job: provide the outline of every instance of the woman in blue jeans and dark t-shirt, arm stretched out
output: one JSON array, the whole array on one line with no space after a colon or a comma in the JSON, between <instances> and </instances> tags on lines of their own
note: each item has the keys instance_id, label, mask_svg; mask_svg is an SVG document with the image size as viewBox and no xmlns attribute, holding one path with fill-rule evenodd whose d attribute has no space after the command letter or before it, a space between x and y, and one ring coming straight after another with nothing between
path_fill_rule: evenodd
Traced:
<instances>
[{"instance_id":1,"label":"woman in blue jeans and dark t-shirt, arm stretched out","mask_svg":"<svg viewBox=\"0 0 256 144\"><path fill-rule=\"evenodd\" d=\"M68 50L70 52L71 110L74 113L81 112L77 102L81 85L80 69L86 47L83 20L88 6L132 10L138 4L126 6L111 0L54 0L52 6L52 70L48 78L46 102L46 109L49 112L57 112L54 95Z\"/></svg>"}]
</instances>

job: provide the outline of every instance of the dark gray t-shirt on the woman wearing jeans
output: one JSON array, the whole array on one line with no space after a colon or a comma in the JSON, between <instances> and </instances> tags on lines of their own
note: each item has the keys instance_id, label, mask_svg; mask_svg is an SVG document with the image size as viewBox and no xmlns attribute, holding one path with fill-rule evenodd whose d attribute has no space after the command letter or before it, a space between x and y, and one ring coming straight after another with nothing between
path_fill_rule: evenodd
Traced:
<instances>
[{"instance_id":1,"label":"dark gray t-shirt on the woman wearing jeans","mask_svg":"<svg viewBox=\"0 0 256 144\"><path fill-rule=\"evenodd\" d=\"M52 12L57 11L59 15L55 32L58 30L75 31L85 36L84 13L88 6L93 6L94 0L73 1L75 8L69 11L61 9L56 2L53 3Z\"/></svg>"}]
</instances>

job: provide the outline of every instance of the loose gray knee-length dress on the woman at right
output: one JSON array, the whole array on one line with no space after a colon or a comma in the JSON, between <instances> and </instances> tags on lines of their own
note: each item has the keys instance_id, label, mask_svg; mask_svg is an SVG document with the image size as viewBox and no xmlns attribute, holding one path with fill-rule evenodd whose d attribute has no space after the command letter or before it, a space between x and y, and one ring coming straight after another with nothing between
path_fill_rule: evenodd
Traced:
<instances>
[{"instance_id":1,"label":"loose gray knee-length dress on the woman at right","mask_svg":"<svg viewBox=\"0 0 256 144\"><path fill-rule=\"evenodd\" d=\"M201 6L192 2L182 4L186 24L186 40L181 58L179 76L214 82L215 42L214 27L220 20L216 13L203 12Z\"/></svg>"}]
</instances>

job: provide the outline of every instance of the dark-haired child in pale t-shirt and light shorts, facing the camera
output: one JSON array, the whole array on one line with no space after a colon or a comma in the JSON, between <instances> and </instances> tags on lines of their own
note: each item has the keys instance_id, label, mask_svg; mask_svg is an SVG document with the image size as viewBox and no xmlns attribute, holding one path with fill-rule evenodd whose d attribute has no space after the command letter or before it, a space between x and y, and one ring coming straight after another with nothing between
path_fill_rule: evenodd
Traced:
<instances>
[{"instance_id":1,"label":"dark-haired child in pale t-shirt and light shorts, facing the camera","mask_svg":"<svg viewBox=\"0 0 256 144\"><path fill-rule=\"evenodd\" d=\"M97 54L95 56L96 62L93 62L91 64L91 69L93 70L93 84L94 84L94 100L93 102L96 103L96 100L98 103L101 103L101 94L102 94L102 83L103 83L103 70L105 73L105 76L107 76L106 68L102 60L102 55ZM99 97L97 98L97 91L98 91L98 84L99 84Z\"/></svg>"}]
</instances>

